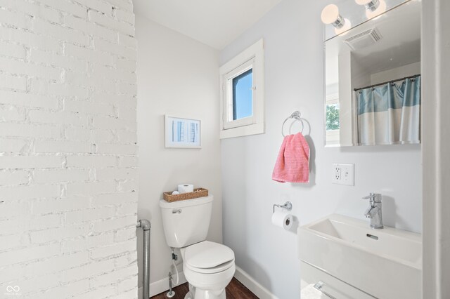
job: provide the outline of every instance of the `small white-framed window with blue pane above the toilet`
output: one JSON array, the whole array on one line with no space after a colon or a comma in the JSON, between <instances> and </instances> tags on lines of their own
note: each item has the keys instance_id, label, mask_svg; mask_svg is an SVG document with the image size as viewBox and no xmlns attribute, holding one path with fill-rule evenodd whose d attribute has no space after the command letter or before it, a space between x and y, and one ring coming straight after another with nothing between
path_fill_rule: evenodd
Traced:
<instances>
[{"instance_id":1,"label":"small white-framed window with blue pane above the toilet","mask_svg":"<svg viewBox=\"0 0 450 299\"><path fill-rule=\"evenodd\" d=\"M262 40L220 68L221 138L264 133Z\"/></svg>"}]
</instances>

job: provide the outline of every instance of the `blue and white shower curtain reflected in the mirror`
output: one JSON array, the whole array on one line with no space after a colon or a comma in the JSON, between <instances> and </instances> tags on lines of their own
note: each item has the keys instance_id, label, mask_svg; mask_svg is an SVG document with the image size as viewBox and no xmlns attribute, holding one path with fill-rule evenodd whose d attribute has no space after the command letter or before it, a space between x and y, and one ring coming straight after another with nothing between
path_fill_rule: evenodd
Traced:
<instances>
[{"instance_id":1,"label":"blue and white shower curtain reflected in the mirror","mask_svg":"<svg viewBox=\"0 0 450 299\"><path fill-rule=\"evenodd\" d=\"M420 143L420 76L355 93L359 145Z\"/></svg>"}]
</instances>

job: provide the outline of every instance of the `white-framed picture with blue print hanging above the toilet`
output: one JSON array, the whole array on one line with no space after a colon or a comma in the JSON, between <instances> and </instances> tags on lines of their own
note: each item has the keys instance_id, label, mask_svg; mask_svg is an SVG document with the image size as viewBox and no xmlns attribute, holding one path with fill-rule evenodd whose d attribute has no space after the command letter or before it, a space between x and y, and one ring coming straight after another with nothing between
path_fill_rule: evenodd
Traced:
<instances>
[{"instance_id":1,"label":"white-framed picture with blue print hanging above the toilet","mask_svg":"<svg viewBox=\"0 0 450 299\"><path fill-rule=\"evenodd\" d=\"M200 125L198 119L181 119L165 115L166 147L201 148Z\"/></svg>"}]
</instances>

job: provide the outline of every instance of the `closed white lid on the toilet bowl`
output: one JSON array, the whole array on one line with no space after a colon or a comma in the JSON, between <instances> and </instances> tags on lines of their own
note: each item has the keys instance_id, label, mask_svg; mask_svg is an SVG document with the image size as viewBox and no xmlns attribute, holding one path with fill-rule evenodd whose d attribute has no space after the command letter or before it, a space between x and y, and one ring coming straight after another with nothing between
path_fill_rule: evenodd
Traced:
<instances>
[{"instance_id":1,"label":"closed white lid on the toilet bowl","mask_svg":"<svg viewBox=\"0 0 450 299\"><path fill-rule=\"evenodd\" d=\"M188 246L184 259L188 266L210 269L234 260L234 252L225 245L203 241Z\"/></svg>"}]
</instances>

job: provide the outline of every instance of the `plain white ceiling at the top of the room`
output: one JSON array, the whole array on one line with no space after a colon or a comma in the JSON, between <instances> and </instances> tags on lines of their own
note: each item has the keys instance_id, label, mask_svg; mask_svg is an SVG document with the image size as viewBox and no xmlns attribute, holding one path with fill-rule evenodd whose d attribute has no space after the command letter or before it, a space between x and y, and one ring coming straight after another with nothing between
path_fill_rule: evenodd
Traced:
<instances>
[{"instance_id":1,"label":"plain white ceiling at the top of the room","mask_svg":"<svg viewBox=\"0 0 450 299\"><path fill-rule=\"evenodd\" d=\"M219 50L281 0L133 0L134 13Z\"/></svg>"}]
</instances>

